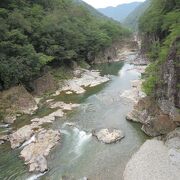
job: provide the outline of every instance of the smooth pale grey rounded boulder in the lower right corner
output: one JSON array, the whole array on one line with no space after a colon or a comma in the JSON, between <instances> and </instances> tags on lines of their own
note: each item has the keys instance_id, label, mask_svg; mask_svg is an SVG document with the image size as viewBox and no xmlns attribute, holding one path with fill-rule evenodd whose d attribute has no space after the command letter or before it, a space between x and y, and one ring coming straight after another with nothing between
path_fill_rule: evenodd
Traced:
<instances>
[{"instance_id":1,"label":"smooth pale grey rounded boulder in the lower right corner","mask_svg":"<svg viewBox=\"0 0 180 180\"><path fill-rule=\"evenodd\" d=\"M124 180L179 180L180 169L169 155L162 141L147 140L128 162Z\"/></svg>"}]
</instances>

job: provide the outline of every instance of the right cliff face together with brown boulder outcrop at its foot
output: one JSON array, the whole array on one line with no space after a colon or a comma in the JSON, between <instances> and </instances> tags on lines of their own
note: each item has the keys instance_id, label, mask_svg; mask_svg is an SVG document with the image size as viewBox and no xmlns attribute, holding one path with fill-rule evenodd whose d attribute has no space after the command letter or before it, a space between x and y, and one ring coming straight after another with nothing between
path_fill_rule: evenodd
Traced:
<instances>
[{"instance_id":1,"label":"right cliff face together with brown boulder outcrop at its foot","mask_svg":"<svg viewBox=\"0 0 180 180\"><path fill-rule=\"evenodd\" d=\"M160 79L154 97L141 99L127 119L143 124L150 136L167 134L180 125L180 53L179 40L173 43L169 55L160 67Z\"/></svg>"}]
</instances>

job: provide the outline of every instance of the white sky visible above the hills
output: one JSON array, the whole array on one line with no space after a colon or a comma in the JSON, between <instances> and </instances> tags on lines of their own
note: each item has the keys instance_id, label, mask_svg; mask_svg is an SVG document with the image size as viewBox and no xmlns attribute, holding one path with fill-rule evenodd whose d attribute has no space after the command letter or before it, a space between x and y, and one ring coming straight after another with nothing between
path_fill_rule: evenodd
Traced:
<instances>
[{"instance_id":1,"label":"white sky visible above the hills","mask_svg":"<svg viewBox=\"0 0 180 180\"><path fill-rule=\"evenodd\" d=\"M104 8L108 6L117 6L119 4L131 3L134 1L143 2L144 0L83 0L94 8Z\"/></svg>"}]
</instances>

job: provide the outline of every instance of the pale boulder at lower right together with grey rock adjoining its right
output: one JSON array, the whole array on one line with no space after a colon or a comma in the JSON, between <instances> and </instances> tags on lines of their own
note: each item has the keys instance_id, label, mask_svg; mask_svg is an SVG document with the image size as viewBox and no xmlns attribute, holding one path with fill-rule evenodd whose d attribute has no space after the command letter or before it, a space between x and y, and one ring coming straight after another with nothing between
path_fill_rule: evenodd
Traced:
<instances>
[{"instance_id":1,"label":"pale boulder at lower right together with grey rock adjoining its right","mask_svg":"<svg viewBox=\"0 0 180 180\"><path fill-rule=\"evenodd\" d=\"M124 180L179 180L180 129L164 139L147 140L135 153L124 171Z\"/></svg>"}]
</instances>

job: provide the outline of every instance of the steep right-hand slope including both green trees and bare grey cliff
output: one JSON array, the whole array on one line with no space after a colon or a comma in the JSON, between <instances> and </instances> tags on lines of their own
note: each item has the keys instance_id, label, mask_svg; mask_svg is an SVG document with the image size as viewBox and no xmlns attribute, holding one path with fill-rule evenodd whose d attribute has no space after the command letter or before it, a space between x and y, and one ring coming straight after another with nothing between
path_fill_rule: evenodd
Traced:
<instances>
[{"instance_id":1,"label":"steep right-hand slope including both green trees and bare grey cliff","mask_svg":"<svg viewBox=\"0 0 180 180\"><path fill-rule=\"evenodd\" d=\"M152 0L139 22L142 51L151 65L144 90L180 106L180 1ZM176 101L176 102L175 102Z\"/></svg>"}]
</instances>

